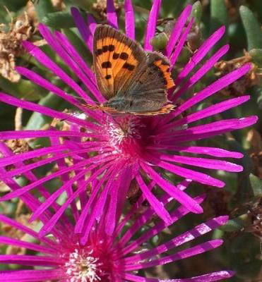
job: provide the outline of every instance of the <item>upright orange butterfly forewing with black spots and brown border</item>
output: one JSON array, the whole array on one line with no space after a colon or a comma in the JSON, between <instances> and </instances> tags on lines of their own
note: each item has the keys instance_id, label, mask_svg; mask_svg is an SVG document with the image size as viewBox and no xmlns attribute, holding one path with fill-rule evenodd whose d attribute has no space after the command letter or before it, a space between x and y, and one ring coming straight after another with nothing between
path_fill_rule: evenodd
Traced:
<instances>
[{"instance_id":1,"label":"upright orange butterfly forewing with black spots and brown border","mask_svg":"<svg viewBox=\"0 0 262 282\"><path fill-rule=\"evenodd\" d=\"M97 25L93 44L97 85L110 99L132 80L145 54L138 43L109 25Z\"/></svg>"}]
</instances>

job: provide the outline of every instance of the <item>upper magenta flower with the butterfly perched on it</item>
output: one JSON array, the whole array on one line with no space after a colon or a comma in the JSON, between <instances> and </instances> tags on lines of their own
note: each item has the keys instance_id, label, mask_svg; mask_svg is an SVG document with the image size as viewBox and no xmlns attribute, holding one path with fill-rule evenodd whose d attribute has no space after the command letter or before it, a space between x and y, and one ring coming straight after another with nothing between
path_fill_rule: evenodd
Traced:
<instances>
[{"instance_id":1,"label":"upper magenta flower with the butterfly perched on it","mask_svg":"<svg viewBox=\"0 0 262 282\"><path fill-rule=\"evenodd\" d=\"M145 50L151 51L153 49L150 45L150 39L155 35L160 4L160 0L153 1L153 7L150 11L145 32ZM124 11L126 35L134 39L135 20L130 0L125 1ZM191 6L186 6L181 16L177 19L177 23L174 25L172 34L167 42L164 54L169 59L171 68L175 66L181 49L186 42L186 37L191 29L191 25L193 24L193 18L188 21L190 13ZM93 34L96 26L95 20L91 16L88 16L88 25L86 25L85 20L83 20L76 8L72 8L72 14L88 49L92 52ZM117 14L114 10L112 0L107 1L107 19L109 25L118 28ZM188 22L189 24L186 25ZM54 32L54 34L52 34L47 27L42 24L39 25L39 30L49 46L64 60L67 66L71 68L73 73L75 73L81 83L88 88L92 95L89 95L83 90L73 78L49 59L40 48L30 42L24 42L24 47L28 50L29 54L69 85L71 90L74 90L85 102L95 104L93 99L90 98L91 96L96 99L96 102L105 102L104 97L102 97L102 94L97 89L93 71L85 64L85 61L79 56L69 40L66 39L61 32ZM229 47L225 45L203 62L201 67L188 78L189 73L191 73L195 66L198 66L198 63L201 63L224 32L225 27L220 27L219 30L206 39L198 51L193 54L189 63L186 63L186 66L177 75L177 78L174 80L177 88L175 91L169 93L169 99L172 102L175 102L181 94L184 94L195 85L196 82L212 68L214 63L227 52ZM70 116L69 114L61 113L45 106L25 102L11 97L8 94L0 93L0 100L2 102L12 104L13 106L20 106L30 111L36 111L46 116L51 116L52 118L64 119L69 123L67 130L50 128L49 130L18 130L0 133L0 139L3 140L40 137L49 137L51 140L49 147L35 149L32 152L25 152L16 156L0 159L1 167L16 164L18 161L30 160L30 164L23 164L11 171L0 173L2 180L16 177L20 175L20 173L28 173L33 168L38 168L45 164L52 163L53 161L57 161L59 164L58 171L49 173L40 180L32 181L23 188L8 193L0 200L10 200L13 197L22 196L25 192L39 188L42 183L46 183L48 180L54 178L69 178L69 181L64 183L59 190L56 190L52 196L46 198L45 202L35 211L32 219L35 219L44 212L45 209L56 201L62 192L66 191L68 199L61 208L56 211L54 216L52 216L48 226L50 229L54 226L69 204L76 210L76 206L73 202L76 200L76 197L79 197L82 213L76 224L76 231L81 232L83 231L83 226L86 224L92 226L97 213L101 213L104 209L106 200L101 200L101 197L106 198L109 193L117 195L119 190L126 195L126 190L128 190L131 181L136 181L136 184L143 192L143 199L148 200L150 205L155 209L155 212L166 223L170 223L172 218L160 201L150 192L155 185L158 185L162 190L167 192L169 196L184 205L186 209L194 213L201 213L202 208L199 204L184 191L180 190L177 185L166 180L163 174L166 172L173 173L181 178L189 178L201 184L221 188L225 185L221 180L213 178L206 173L198 172L197 169L192 169L191 166L232 172L242 171L242 166L233 164L230 161L216 159L217 157L241 158L242 154L239 152L229 152L216 147L191 146L189 142L213 137L254 124L257 120L256 116L225 119L204 125L191 125L193 122L214 116L215 114L219 114L222 111L242 104L249 99L249 96L228 99L227 101L207 106L205 109L193 112L193 114L186 114L185 111L242 77L242 75L249 71L249 68L250 65L246 64L236 71L232 71L208 85L205 89L194 94L193 97L187 99L183 104L177 106L174 111L165 116L129 116L117 118L116 120L114 117L102 111L91 111L87 109L79 103L78 99L64 92L64 90L61 90L56 85L52 85L52 83L42 78L37 73L27 68L18 67L18 73L32 80L32 82L35 82L37 85L44 87L46 90L49 90L49 92L53 92L59 97L62 97L73 106L76 106L85 114L85 118ZM181 114L184 114L184 116L181 117ZM63 141L61 141L61 137L64 137ZM181 156L179 152L189 154ZM193 157L190 154L193 154ZM196 154L201 154L201 157L196 157ZM40 160L35 161L35 157L40 157ZM71 158L72 161L66 161L68 158ZM180 166L181 164L183 164L183 166ZM189 165L189 167L185 167L184 165ZM121 176L121 172L126 168L129 168L131 171L130 178L123 178ZM76 175L71 176L70 171L75 171ZM89 178L87 178L87 176L89 176ZM117 185L112 186L110 184L112 180L116 180ZM73 184L76 182L79 184L78 190L73 192ZM81 200L82 194L85 193L88 185L90 190L92 190L90 198L88 201ZM123 187L126 187L126 189L124 190ZM117 198L115 200L117 201ZM90 207L93 206L94 203L96 208L90 210ZM114 209L116 204L112 200L110 205L112 209Z\"/></svg>"}]
</instances>

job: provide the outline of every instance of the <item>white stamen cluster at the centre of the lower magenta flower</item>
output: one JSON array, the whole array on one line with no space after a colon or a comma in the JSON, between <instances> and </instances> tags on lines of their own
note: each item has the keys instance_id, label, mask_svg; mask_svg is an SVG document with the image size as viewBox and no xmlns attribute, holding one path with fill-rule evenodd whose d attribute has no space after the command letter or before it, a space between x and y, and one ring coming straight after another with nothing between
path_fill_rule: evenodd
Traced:
<instances>
[{"instance_id":1,"label":"white stamen cluster at the centre of the lower magenta flower","mask_svg":"<svg viewBox=\"0 0 262 282\"><path fill-rule=\"evenodd\" d=\"M66 274L69 275L69 282L97 282L101 281L101 274L103 271L100 269L102 263L92 256L93 251L83 252L74 250L69 255L69 261L66 262Z\"/></svg>"}]
</instances>

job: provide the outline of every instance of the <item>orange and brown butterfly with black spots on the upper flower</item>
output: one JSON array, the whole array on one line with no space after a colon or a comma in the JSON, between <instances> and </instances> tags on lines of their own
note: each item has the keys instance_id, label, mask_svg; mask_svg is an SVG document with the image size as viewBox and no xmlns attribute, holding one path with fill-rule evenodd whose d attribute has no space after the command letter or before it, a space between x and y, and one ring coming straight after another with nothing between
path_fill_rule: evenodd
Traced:
<instances>
[{"instance_id":1,"label":"orange and brown butterfly with black spots on the upper flower","mask_svg":"<svg viewBox=\"0 0 262 282\"><path fill-rule=\"evenodd\" d=\"M169 61L109 25L97 25L93 39L97 86L107 101L86 104L109 114L168 114L167 90L174 87Z\"/></svg>"}]
</instances>

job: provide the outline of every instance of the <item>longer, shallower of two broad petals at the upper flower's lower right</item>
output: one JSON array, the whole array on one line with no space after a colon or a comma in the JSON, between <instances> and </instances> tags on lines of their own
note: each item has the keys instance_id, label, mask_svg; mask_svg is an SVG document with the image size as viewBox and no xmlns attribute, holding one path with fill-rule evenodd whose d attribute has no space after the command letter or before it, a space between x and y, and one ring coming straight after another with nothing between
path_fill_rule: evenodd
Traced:
<instances>
[{"instance_id":1,"label":"longer, shallower of two broad petals at the upper flower's lower right","mask_svg":"<svg viewBox=\"0 0 262 282\"><path fill-rule=\"evenodd\" d=\"M153 170L153 168L143 164L142 162L141 167L143 168L145 173L150 176L150 178L155 180L155 182L160 185L160 187L165 190L165 192L167 192L171 197L174 197L177 202L184 205L184 207L186 207L193 213L201 214L201 212L203 212L203 209L199 206L199 204L196 203L196 201L189 197L189 195L187 195L185 192L179 190L176 186L172 185L167 180L162 178L158 173Z\"/></svg>"}]
</instances>

